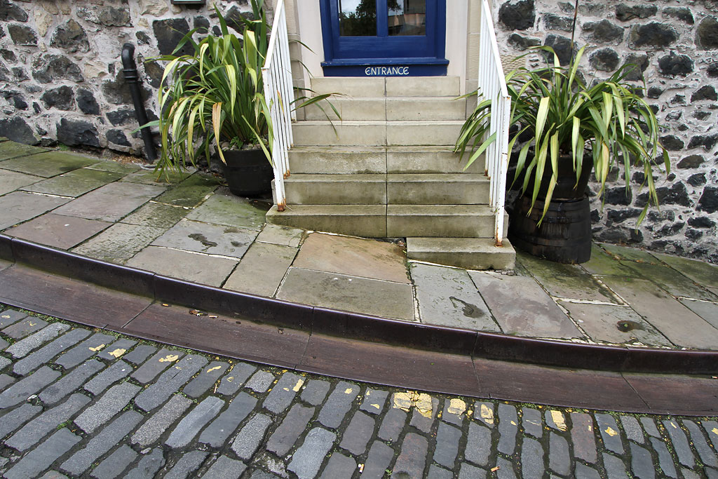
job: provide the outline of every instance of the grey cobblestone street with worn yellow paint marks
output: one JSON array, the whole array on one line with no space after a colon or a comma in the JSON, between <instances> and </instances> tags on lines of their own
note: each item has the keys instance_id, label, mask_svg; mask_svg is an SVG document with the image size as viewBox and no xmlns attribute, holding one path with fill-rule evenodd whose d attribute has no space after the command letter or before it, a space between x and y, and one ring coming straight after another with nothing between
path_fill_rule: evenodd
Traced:
<instances>
[{"instance_id":1,"label":"grey cobblestone street with worn yellow paint marks","mask_svg":"<svg viewBox=\"0 0 718 479\"><path fill-rule=\"evenodd\" d=\"M716 418L430 395L13 309L0 391L8 479L718 478Z\"/></svg>"}]
</instances>

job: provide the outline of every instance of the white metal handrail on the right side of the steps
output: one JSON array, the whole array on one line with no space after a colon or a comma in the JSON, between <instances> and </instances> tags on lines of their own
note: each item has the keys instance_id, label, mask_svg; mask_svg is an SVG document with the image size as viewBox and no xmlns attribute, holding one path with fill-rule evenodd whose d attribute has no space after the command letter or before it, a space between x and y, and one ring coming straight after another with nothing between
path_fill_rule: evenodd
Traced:
<instances>
[{"instance_id":1,"label":"white metal handrail on the right side of the steps","mask_svg":"<svg viewBox=\"0 0 718 479\"><path fill-rule=\"evenodd\" d=\"M498 52L493 15L488 0L482 0L479 52L478 101L491 100L490 127L486 138L496 139L485 152L485 174L490 179L489 205L495 215L496 246L503 242L504 206L506 201L506 175L508 172L508 127L510 126L511 98Z\"/></svg>"}]
</instances>

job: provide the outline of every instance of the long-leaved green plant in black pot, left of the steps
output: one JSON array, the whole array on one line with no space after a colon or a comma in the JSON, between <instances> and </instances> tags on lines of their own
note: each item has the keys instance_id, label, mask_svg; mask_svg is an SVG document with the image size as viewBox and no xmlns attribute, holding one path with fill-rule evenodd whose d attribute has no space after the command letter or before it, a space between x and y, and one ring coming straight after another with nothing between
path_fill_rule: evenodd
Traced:
<instances>
[{"instance_id":1,"label":"long-leaved green plant in black pot, left of the steps","mask_svg":"<svg viewBox=\"0 0 718 479\"><path fill-rule=\"evenodd\" d=\"M168 62L159 90L159 120L150 123L159 126L162 141L158 177L189 164L196 166L195 159L201 154L209 163L214 150L234 194L251 196L271 191L273 135L261 70L269 46L263 3L251 0L253 19L242 19L242 40L229 32L215 6L221 35L208 34L197 43L192 38L197 32L194 29L174 50L176 53L190 44L192 54L153 59ZM171 83L164 86L168 79ZM329 96L308 100L300 96L294 107Z\"/></svg>"}]
</instances>

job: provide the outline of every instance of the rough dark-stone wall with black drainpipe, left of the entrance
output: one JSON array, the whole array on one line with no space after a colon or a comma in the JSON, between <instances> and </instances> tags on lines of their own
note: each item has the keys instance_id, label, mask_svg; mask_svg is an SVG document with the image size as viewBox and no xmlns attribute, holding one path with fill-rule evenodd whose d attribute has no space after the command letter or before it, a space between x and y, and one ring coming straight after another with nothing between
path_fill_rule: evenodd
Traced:
<instances>
[{"instance_id":1,"label":"rough dark-stone wall with black drainpipe, left of the entrance","mask_svg":"<svg viewBox=\"0 0 718 479\"><path fill-rule=\"evenodd\" d=\"M156 118L162 67L144 58L171 53L190 29L217 29L212 4L0 0L0 136L141 154L122 45L136 46L148 115ZM216 4L237 29L237 19L251 11L247 0Z\"/></svg>"}]
</instances>

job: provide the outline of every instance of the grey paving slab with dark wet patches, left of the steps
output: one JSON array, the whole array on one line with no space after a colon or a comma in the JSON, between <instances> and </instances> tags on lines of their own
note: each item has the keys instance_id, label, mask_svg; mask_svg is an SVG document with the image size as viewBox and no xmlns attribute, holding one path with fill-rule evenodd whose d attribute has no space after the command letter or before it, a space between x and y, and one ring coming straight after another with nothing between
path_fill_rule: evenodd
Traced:
<instances>
[{"instance_id":1,"label":"grey paving slab with dark wet patches, left of the steps","mask_svg":"<svg viewBox=\"0 0 718 479\"><path fill-rule=\"evenodd\" d=\"M182 220L152 245L241 258L256 238L256 230Z\"/></svg>"}]
</instances>

